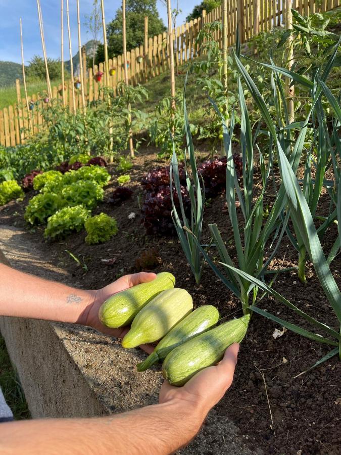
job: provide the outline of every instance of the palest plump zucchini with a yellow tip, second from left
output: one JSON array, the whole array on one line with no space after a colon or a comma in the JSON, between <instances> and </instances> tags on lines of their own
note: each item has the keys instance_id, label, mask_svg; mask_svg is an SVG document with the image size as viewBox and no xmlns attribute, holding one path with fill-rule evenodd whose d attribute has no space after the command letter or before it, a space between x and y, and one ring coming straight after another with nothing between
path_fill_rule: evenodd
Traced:
<instances>
[{"instance_id":1,"label":"palest plump zucchini with a yellow tip, second from left","mask_svg":"<svg viewBox=\"0 0 341 455\"><path fill-rule=\"evenodd\" d=\"M129 349L160 340L192 309L192 298L187 291L167 289L137 314L122 340L122 346Z\"/></svg>"}]
</instances>

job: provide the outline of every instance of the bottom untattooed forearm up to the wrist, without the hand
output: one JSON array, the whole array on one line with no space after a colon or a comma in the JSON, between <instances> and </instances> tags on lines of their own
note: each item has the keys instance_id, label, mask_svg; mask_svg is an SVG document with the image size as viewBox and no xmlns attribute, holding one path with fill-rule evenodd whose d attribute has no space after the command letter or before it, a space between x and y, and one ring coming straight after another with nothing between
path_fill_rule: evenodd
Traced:
<instances>
[{"instance_id":1,"label":"bottom untattooed forearm up to the wrist, without the hand","mask_svg":"<svg viewBox=\"0 0 341 455\"><path fill-rule=\"evenodd\" d=\"M0 425L2 454L166 455L200 430L206 412L173 400L98 419L48 419Z\"/></svg>"}]
</instances>

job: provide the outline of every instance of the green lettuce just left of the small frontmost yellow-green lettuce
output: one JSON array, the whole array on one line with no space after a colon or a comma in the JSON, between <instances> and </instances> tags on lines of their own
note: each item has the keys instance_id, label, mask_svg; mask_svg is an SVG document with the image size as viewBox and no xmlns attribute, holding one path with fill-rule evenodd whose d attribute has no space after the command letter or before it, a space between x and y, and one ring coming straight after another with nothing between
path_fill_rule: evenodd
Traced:
<instances>
[{"instance_id":1,"label":"green lettuce just left of the small frontmost yellow-green lettuce","mask_svg":"<svg viewBox=\"0 0 341 455\"><path fill-rule=\"evenodd\" d=\"M79 232L89 216L90 210L82 205L64 207L48 218L44 237L54 239L65 237L73 231Z\"/></svg>"}]
</instances>

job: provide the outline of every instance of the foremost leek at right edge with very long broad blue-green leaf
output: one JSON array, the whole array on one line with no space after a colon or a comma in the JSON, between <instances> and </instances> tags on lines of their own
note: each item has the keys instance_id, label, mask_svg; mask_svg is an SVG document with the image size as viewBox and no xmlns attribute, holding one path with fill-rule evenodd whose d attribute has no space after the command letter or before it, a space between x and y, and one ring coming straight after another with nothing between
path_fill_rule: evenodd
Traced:
<instances>
[{"instance_id":1,"label":"foremost leek at right edge with very long broad blue-green leaf","mask_svg":"<svg viewBox=\"0 0 341 455\"><path fill-rule=\"evenodd\" d=\"M325 85L325 80L329 74L330 68L333 64L333 59L335 58L336 55L336 50L337 47L334 50L334 53L332 57L329 59L322 75L321 78L317 81L316 84L316 91L315 91L315 96L312 104L312 109L316 105L318 107L320 104L318 103L319 98L321 96L321 93L326 95L326 97L329 97L329 92L326 90L326 85ZM256 305L250 306L250 309L252 311L255 311L259 314L264 315L268 319L280 324L283 327L286 327L289 330L292 330L302 336L305 336L307 338L310 338L314 341L317 341L319 343L327 344L331 346L331 350L324 355L321 359L319 359L315 365L311 368L316 367L319 365L321 362L329 359L333 355L336 355L337 353L339 354L339 358L341 359L341 292L339 288L337 287L335 280L331 274L331 271L329 269L328 261L325 258L325 255L322 250L322 246L320 243L318 231L315 228L314 224L314 213L312 213L311 206L309 206L309 199L307 200L306 194L304 194L304 191L302 191L299 180L296 177L296 171L295 167L290 162L290 159L292 155L295 155L295 148L297 144L300 142L300 135L299 138L295 144L294 147L294 152L293 154L290 154L289 156L286 155L284 152L280 141L277 138L277 133L275 129L275 125L273 123L273 120L271 119L270 113L266 107L266 104L264 102L264 99L262 98L261 94L259 93L257 87L255 86L254 82L246 72L245 68L242 66L241 62L239 59L236 57L236 62L237 65L240 69L240 72L245 79L248 88L250 92L253 95L253 98L255 100L255 103L259 107L260 111L262 112L262 117L264 121L267 124L267 127L269 129L270 134L272 135L272 138L275 142L276 145L276 150L277 150L277 160L279 164L279 172L280 176L282 179L282 185L281 189L283 188L286 196L286 201L290 213L290 217L293 220L293 224L296 226L296 229L299 230L300 236L303 242L303 246L306 249L313 266L316 271L316 275L320 281L320 284L325 292L326 298L328 299L334 313L336 316L337 324L339 326L338 331L332 329L331 327L327 326L326 324L314 319L314 317L310 316L306 312L300 310L297 306L295 306L293 303L289 302L285 297L281 296L278 294L276 291L271 289L270 286L266 285L264 281L259 280L255 275L250 274L250 272L245 271L239 267L237 269L236 267L233 267L233 265L229 264L227 261L225 261L224 266L229 268L231 272L239 275L239 277L243 280L247 280L249 283L251 283L250 290L251 289L261 289L265 293L271 295L272 297L276 298L279 300L281 303L286 305L287 307L293 309L297 314L302 316L306 321L308 321L315 330L318 331L323 331L325 334L328 335L328 337L321 336L317 334L314 331L306 330L298 325L291 324L287 321L284 321L283 319L280 319L279 317L275 316L274 314L269 313L268 311L264 311L261 308L257 307ZM279 72L283 72L283 69L277 69ZM293 78L296 77L296 74L293 73ZM302 76L300 76L302 77ZM330 100L329 100L330 101ZM334 101L332 100L331 102L332 108L335 111L336 116L339 116L339 109L337 107L337 103L335 104ZM311 112L309 113L309 116L311 115ZM321 116L321 114L319 114ZM305 125L307 124L307 121L305 122ZM329 137L329 136L328 136ZM338 139L339 141L339 139ZM332 156L332 160L335 159L335 156ZM339 176L340 170L337 169L336 162L333 161L333 165L335 165L335 175ZM323 177L322 177L323 178ZM339 179L335 181L335 184L339 184ZM340 197L341 197L341 190L340 190L340 185L338 185L338 190L337 190L337 202L336 202L336 214L338 216L338 220L340 221L340 216L341 216L341 202L340 202ZM338 238L340 238L340 227L338 224Z\"/></svg>"}]
</instances>

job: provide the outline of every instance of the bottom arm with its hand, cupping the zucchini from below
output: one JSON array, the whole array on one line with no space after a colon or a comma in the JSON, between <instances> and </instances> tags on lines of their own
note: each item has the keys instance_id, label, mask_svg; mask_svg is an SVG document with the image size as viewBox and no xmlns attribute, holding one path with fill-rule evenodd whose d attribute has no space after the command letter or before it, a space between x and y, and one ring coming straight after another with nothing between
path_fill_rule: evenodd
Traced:
<instances>
[{"instance_id":1,"label":"bottom arm with its hand, cupping the zucchini from below","mask_svg":"<svg viewBox=\"0 0 341 455\"><path fill-rule=\"evenodd\" d=\"M198 433L209 410L232 383L239 345L230 346L216 367L183 387L165 382L160 402L96 419L46 419L0 425L0 452L63 455L166 455ZM228 449L227 449L228 451Z\"/></svg>"}]
</instances>

